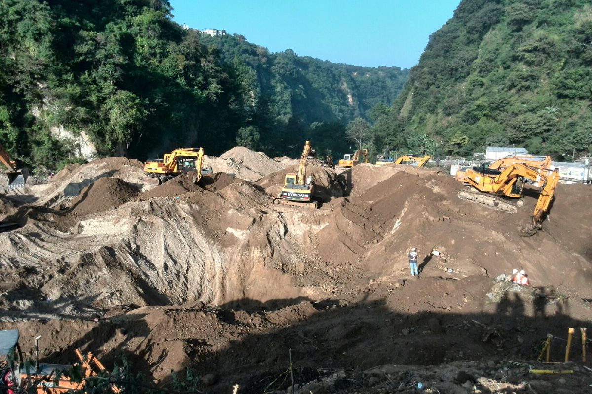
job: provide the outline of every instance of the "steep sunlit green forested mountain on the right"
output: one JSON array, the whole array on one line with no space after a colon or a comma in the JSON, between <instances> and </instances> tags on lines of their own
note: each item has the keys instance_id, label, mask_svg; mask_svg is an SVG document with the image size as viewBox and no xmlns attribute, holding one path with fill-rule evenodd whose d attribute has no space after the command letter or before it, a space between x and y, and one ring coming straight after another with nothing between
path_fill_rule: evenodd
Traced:
<instances>
[{"instance_id":1,"label":"steep sunlit green forested mountain on the right","mask_svg":"<svg viewBox=\"0 0 592 394\"><path fill-rule=\"evenodd\" d=\"M382 111L376 143L461 155L516 144L571 160L592 145L591 66L589 0L463 0Z\"/></svg>"}]
</instances>

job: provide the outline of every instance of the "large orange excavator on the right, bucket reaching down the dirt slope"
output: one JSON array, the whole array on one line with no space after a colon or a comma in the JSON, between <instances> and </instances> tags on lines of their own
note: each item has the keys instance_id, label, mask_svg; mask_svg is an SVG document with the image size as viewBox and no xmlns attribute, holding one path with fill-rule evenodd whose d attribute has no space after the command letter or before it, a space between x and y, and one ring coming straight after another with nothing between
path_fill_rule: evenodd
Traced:
<instances>
[{"instance_id":1,"label":"large orange excavator on the right, bucket reaching down the dirt slope","mask_svg":"<svg viewBox=\"0 0 592 394\"><path fill-rule=\"evenodd\" d=\"M500 197L520 198L525 180L542 184L540 195L532 215L532 223L522 230L522 236L532 236L540 229L543 214L549 209L555 188L559 183L559 172L529 167L523 163L510 164L503 171L473 167L465 170L462 180L469 185L456 194L461 200L481 204L491 209L516 213L517 207Z\"/></svg>"}]
</instances>

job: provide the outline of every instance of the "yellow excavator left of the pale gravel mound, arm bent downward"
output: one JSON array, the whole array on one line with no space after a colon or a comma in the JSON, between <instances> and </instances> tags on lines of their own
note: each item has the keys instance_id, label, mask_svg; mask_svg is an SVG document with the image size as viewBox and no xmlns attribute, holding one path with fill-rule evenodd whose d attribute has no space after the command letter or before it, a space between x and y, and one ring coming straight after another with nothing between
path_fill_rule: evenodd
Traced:
<instances>
[{"instance_id":1,"label":"yellow excavator left of the pale gravel mound, arm bent downward","mask_svg":"<svg viewBox=\"0 0 592 394\"><path fill-rule=\"evenodd\" d=\"M201 180L203 167L204 148L177 148L165 154L163 159L150 159L144 162L146 175L156 178L159 184L189 171L195 171L193 182L198 183Z\"/></svg>"}]
</instances>

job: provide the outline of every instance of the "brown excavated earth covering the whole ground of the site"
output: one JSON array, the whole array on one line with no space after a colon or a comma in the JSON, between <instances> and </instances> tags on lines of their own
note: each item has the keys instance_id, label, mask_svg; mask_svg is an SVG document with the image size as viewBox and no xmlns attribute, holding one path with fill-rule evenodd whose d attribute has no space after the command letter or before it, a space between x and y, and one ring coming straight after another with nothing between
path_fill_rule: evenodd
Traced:
<instances>
[{"instance_id":1,"label":"brown excavated earth covering the whole ground of the site","mask_svg":"<svg viewBox=\"0 0 592 394\"><path fill-rule=\"evenodd\" d=\"M290 349L301 393L589 390L590 186L560 184L542 230L520 237L534 189L506 214L458 200L439 170L313 165L323 204L300 210L272 204L297 167L244 149L224 158L233 175L197 185L155 187L140 162L107 158L0 194L0 220L20 225L0 234L0 328L25 350L43 335L47 361L124 354L156 385L192 369L213 393L291 392ZM505 282L512 269L533 286ZM573 363L536 363L547 334L563 360L568 327Z\"/></svg>"}]
</instances>

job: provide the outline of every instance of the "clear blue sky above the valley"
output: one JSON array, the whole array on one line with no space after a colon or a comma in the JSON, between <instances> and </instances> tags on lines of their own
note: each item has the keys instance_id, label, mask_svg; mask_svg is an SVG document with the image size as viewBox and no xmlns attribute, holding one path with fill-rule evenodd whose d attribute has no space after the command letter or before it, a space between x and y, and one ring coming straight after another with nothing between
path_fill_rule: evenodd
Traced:
<instances>
[{"instance_id":1,"label":"clear blue sky above the valley","mask_svg":"<svg viewBox=\"0 0 592 394\"><path fill-rule=\"evenodd\" d=\"M225 29L272 52L357 66L417 64L460 0L169 0L176 22Z\"/></svg>"}]
</instances>

